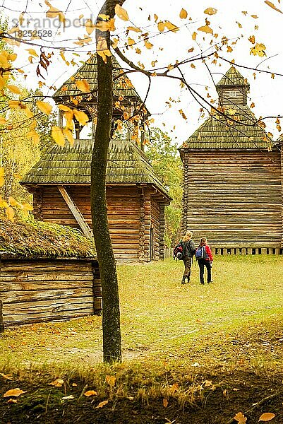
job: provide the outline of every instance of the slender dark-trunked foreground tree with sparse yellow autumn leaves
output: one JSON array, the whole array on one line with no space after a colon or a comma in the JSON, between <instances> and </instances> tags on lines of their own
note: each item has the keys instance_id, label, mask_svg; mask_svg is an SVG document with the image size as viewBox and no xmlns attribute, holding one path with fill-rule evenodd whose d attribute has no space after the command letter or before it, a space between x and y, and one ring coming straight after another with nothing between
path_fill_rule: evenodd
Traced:
<instances>
[{"instance_id":1,"label":"slender dark-trunked foreground tree with sparse yellow autumn leaves","mask_svg":"<svg viewBox=\"0 0 283 424\"><path fill-rule=\"evenodd\" d=\"M126 2L125 2L126 3ZM65 13L54 7L49 1L45 1L47 6L47 17L51 20L56 18L61 23L62 28L66 21ZM128 6L133 6L133 2L128 1ZM194 5L196 8L198 5ZM279 6L279 5L278 5ZM124 73L121 73L115 78L122 78L124 75L131 76L139 73L145 78L147 84L144 90L144 102L147 101L150 95L150 88L159 80L159 78L167 78L167 81L174 81L176 99L169 98L167 107L179 104L179 93L187 95L187 98L194 100L198 104L200 118L206 114L214 114L224 117L227 125L237 124L238 120L234 117L233 112L227 111L222 105L217 105L213 98L213 89L215 88L214 69L219 70L219 66L225 64L234 64L234 66L251 69L256 74L258 71L264 72L271 78L282 76L279 72L266 69L260 63L251 64L247 60L237 62L233 54L236 52L237 45L244 40L249 47L245 46L245 51L251 58L258 58L260 61L266 58L266 47L263 40L259 40L253 33L244 34L243 25L237 20L236 25L239 28L237 37L229 37L228 34L222 32L221 25L218 25L217 30L214 28L213 19L217 15L217 9L213 7L203 7L203 17L194 19L189 16L185 8L181 8L178 13L172 10L169 17L159 18L157 13L150 11L150 16L143 15L143 4L138 5L139 10L136 13L136 18L143 16L143 22L140 25L133 22L134 18L130 18L124 8L124 0L106 0L97 15L97 19L93 22L87 19L84 22L85 32L78 36L74 43L76 48L83 49L85 46L90 46L92 53L97 54L97 125L95 129L95 146L92 155L92 184L91 184L91 202L92 202L92 225L95 237L95 245L97 247L97 257L100 264L100 273L102 276L102 296L103 296L103 338L104 338L104 360L111 362L112 360L121 359L121 332L119 324L119 291L116 276L116 266L114 254L112 250L111 240L109 237L109 228L107 225L107 209L105 199L105 170L107 165L107 151L109 140L111 137L112 126L112 108L113 108L113 71L112 71L112 54L124 61ZM265 1L266 10L271 10L272 13L282 13L279 7L275 6L270 1ZM162 13L162 11L161 11ZM116 17L115 17L116 15ZM174 16L174 18L171 18ZM242 16L248 20L251 26L251 21L258 18L257 15L242 12ZM35 63L36 73L38 78L42 79L43 73L48 71L52 65L54 58L54 46L48 45L44 40L39 40L38 36L31 35L25 37L20 33L19 27L25 19L25 13L20 13L18 25L11 28L9 31L4 31L1 34L2 39L12 45L25 45L28 51L28 61ZM172 22L174 20L174 22ZM178 20L178 23L175 21ZM254 25L256 34L257 25ZM116 29L117 28L117 29ZM181 30L185 30L184 34ZM92 41L95 31L95 52L93 51ZM178 38L179 33L181 38ZM164 43L159 43L157 40L162 37ZM166 50L167 37L176 37L174 45L181 45L181 42L186 39L186 49L182 51L182 57L177 55L178 49ZM179 43L179 44L178 44ZM59 55L62 63L68 64L66 53L72 52L72 48L61 45L56 47L59 49ZM73 49L75 47L73 46ZM166 52L162 61L157 59L157 53ZM151 57L148 59L147 54L151 52ZM76 53L78 54L78 53ZM11 73L24 72L22 69L17 69L13 66L15 58L8 54L1 54L0 62L0 83L2 89L8 91L15 90L8 88L8 76ZM193 85L192 72L205 69L207 81L203 81L203 89ZM190 72L188 72L188 70ZM221 72L221 71L220 71ZM45 73L44 73L45 75ZM77 81L77 84L79 82ZM88 81L80 82L80 90L83 93L88 93ZM161 95L162 93L160 93ZM61 112L64 112L65 126L53 126L52 136L57 143L64 144L65 142L73 143L74 124L76 120L80 126L88 122L88 117L83 112L76 109L80 95L77 98L71 99L72 107L61 107ZM12 101L12 103L11 103ZM27 98L19 100L9 100L8 104L11 107L18 107L20 110L28 112L26 102ZM188 103L188 102L187 102ZM37 100L37 108L44 114L49 116L52 111L52 105L47 98ZM116 106L118 107L118 105ZM186 121L187 110L184 107L178 108L179 116ZM149 125L149 122L143 122L143 128L139 124L143 119L143 107L132 110L131 114L121 109L121 115L124 122L131 126L132 139L138 141L143 140L144 128ZM38 134L34 122L35 114L28 112L26 122L29 122L29 133L33 139L36 139ZM280 116L272 118L277 125L278 131L281 131ZM6 122L2 122L7 126ZM263 118L254 119L250 122L251 126L265 126ZM7 126L8 128L8 126ZM267 147L272 143L272 134L267 132Z\"/></svg>"}]
</instances>

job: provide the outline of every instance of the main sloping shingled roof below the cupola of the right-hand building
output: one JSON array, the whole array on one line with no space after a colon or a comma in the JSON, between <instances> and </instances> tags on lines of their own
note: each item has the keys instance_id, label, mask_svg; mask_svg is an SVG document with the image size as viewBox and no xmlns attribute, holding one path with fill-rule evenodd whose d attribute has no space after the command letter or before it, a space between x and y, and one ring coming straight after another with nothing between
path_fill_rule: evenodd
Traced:
<instances>
[{"instance_id":1,"label":"main sloping shingled roof below the cupola of the right-hand building","mask_svg":"<svg viewBox=\"0 0 283 424\"><path fill-rule=\"evenodd\" d=\"M238 121L229 121L231 118ZM256 122L255 115L247 105L233 105L225 110L227 117L214 113L183 142L181 148L267 148L267 135Z\"/></svg>"}]
</instances>

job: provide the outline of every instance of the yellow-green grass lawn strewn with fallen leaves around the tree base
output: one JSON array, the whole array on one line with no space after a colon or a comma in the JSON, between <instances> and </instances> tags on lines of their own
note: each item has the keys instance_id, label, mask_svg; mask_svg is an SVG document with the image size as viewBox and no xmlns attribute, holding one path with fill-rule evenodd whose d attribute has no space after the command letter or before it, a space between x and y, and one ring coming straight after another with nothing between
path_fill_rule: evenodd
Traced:
<instances>
[{"instance_id":1,"label":"yellow-green grass lawn strewn with fallen leaves around the tree base","mask_svg":"<svg viewBox=\"0 0 283 424\"><path fill-rule=\"evenodd\" d=\"M0 379L0 396L13 388L13 381L29 394L30 385L38 392L42 384L61 375L64 387L47 386L57 410L56 401L60 411L65 405L64 394L88 401L83 396L87 384L95 387L100 399L109 399L109 407L97 410L98 398L77 403L76 413L82 417L78 423L226 424L231 414L247 411L247 424L252 424L258 422L261 404L256 411L249 409L256 409L252 405L260 400L272 409L263 412L276 412L270 422L283 423L283 257L215 257L210 285L200 285L195 264L191 283L181 285L183 263L171 259L121 265L118 273L124 363L95 365L102 359L101 317L6 329L0 336L1 372L14 377ZM114 384L106 375L115 376ZM71 382L76 386L72 388ZM76 387L80 393L75 393ZM273 398L277 389L278 399ZM56 400L54 393L61 397ZM28 394L19 398L19 405L24 402L20 399L32 403ZM69 422L74 403L63 408L66 415L60 418L56 408L47 408L47 389L41 396L39 418L30 413L29 421L27 414L19 418L18 412L15 420L7 416L0 422ZM271 400L265 400L268 396ZM273 406L272 399L277 402ZM96 420L88 420L80 406L82 411L95 411ZM17 408L8 406L11 413ZM33 411L33 406L27 408ZM135 418L132 410L138 411ZM6 399L0 411L5 417Z\"/></svg>"}]
</instances>

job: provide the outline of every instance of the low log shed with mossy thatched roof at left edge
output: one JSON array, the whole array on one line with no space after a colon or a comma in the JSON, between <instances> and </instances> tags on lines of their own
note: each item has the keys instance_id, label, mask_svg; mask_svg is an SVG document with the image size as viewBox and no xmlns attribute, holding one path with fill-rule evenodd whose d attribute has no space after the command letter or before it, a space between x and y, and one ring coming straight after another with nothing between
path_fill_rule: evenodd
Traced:
<instances>
[{"instance_id":1,"label":"low log shed with mossy thatched roof at left edge","mask_svg":"<svg viewBox=\"0 0 283 424\"><path fill-rule=\"evenodd\" d=\"M0 217L0 325L100 314L94 244L78 230Z\"/></svg>"}]
</instances>

